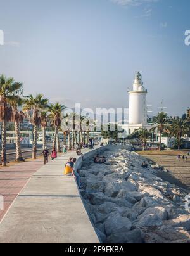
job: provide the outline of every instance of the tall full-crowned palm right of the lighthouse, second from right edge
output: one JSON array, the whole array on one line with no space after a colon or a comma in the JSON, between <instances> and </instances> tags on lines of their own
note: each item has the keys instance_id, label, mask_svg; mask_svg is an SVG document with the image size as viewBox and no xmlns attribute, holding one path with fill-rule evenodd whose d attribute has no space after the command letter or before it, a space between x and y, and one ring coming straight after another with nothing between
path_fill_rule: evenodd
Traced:
<instances>
[{"instance_id":1,"label":"tall full-crowned palm right of the lighthouse, second from right edge","mask_svg":"<svg viewBox=\"0 0 190 256\"><path fill-rule=\"evenodd\" d=\"M162 150L162 135L163 133L170 132L171 118L168 117L167 113L160 112L156 117L153 117L153 122L155 123L151 131L157 130L160 133L160 151Z\"/></svg>"}]
</instances>

